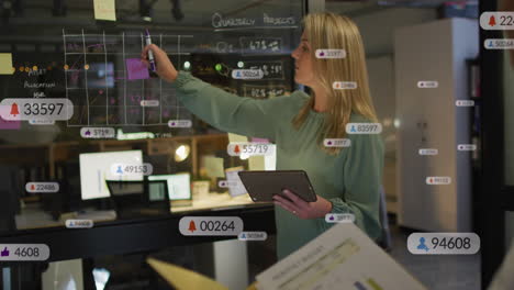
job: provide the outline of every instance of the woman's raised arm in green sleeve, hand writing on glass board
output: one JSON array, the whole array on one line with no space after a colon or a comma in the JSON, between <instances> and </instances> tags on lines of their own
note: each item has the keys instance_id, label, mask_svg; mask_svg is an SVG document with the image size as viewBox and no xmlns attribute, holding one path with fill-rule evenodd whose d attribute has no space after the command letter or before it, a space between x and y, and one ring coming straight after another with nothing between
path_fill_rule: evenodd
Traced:
<instances>
[{"instance_id":1,"label":"woman's raised arm in green sleeve, hand writing on glass board","mask_svg":"<svg viewBox=\"0 0 514 290\"><path fill-rule=\"evenodd\" d=\"M154 44L142 52L142 62L148 64L152 49L156 72L177 89L178 100L193 114L212 126L241 135L276 140L284 109L293 97L256 100L215 88L189 72L177 71L167 54ZM290 120L287 120L288 122Z\"/></svg>"}]
</instances>

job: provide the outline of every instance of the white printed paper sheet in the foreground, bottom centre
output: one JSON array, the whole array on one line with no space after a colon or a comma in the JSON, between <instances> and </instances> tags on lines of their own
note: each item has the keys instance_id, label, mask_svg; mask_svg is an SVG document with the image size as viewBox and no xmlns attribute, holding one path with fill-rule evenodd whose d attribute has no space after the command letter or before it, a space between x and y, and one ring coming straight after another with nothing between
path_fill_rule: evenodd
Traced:
<instances>
[{"instance_id":1,"label":"white printed paper sheet in the foreground, bottom centre","mask_svg":"<svg viewBox=\"0 0 514 290\"><path fill-rule=\"evenodd\" d=\"M426 290L351 223L333 226L256 278L266 290Z\"/></svg>"}]
</instances>

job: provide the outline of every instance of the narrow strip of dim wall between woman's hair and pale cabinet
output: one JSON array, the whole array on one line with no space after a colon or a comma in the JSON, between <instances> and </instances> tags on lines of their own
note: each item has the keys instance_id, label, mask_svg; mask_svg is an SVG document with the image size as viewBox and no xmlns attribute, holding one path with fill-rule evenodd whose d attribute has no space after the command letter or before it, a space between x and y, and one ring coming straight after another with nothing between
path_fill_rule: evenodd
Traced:
<instances>
[{"instance_id":1,"label":"narrow strip of dim wall between woman's hair and pale cabinet","mask_svg":"<svg viewBox=\"0 0 514 290\"><path fill-rule=\"evenodd\" d=\"M365 44L371 97L380 122L386 145L383 186L388 211L395 212L396 157L394 96L394 30L436 20L435 9L389 8L350 16L358 25Z\"/></svg>"}]
</instances>

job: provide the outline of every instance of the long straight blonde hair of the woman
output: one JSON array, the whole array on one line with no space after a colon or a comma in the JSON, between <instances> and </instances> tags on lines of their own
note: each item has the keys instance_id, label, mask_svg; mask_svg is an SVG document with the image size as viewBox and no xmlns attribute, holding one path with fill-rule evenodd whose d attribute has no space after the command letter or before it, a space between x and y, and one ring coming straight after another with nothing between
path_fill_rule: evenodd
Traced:
<instances>
[{"instance_id":1,"label":"long straight blonde hair of the woman","mask_svg":"<svg viewBox=\"0 0 514 290\"><path fill-rule=\"evenodd\" d=\"M303 19L304 32L311 44L313 74L320 87L326 91L327 111L317 144L326 153L337 155L340 147L326 147L324 138L343 138L351 112L377 122L377 115L369 92L366 57L357 25L348 18L334 13L314 13ZM316 58L315 51L324 48L345 49L345 58ZM335 90L334 81L355 81L356 89ZM314 94L293 119L293 126L301 127L309 111L314 107Z\"/></svg>"}]
</instances>

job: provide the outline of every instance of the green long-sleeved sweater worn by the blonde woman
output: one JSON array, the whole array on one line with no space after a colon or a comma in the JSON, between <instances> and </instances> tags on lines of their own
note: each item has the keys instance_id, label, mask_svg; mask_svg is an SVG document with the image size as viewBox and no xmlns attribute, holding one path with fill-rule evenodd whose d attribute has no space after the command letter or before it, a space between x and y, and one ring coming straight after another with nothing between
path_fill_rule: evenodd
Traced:
<instances>
[{"instance_id":1,"label":"green long-sleeved sweater worn by the blonde woman","mask_svg":"<svg viewBox=\"0 0 514 290\"><path fill-rule=\"evenodd\" d=\"M333 213L353 213L358 227L373 239L380 236L383 143L379 134L348 134L351 146L333 156L316 144L324 113L311 110L298 131L291 123L310 98L302 91L255 100L225 92L183 71L172 87L188 110L214 127L272 140L277 144L277 170L305 170L315 192L332 202ZM350 122L369 121L353 113ZM275 207L275 213L279 259L333 225L325 219L302 220L280 207Z\"/></svg>"}]
</instances>

